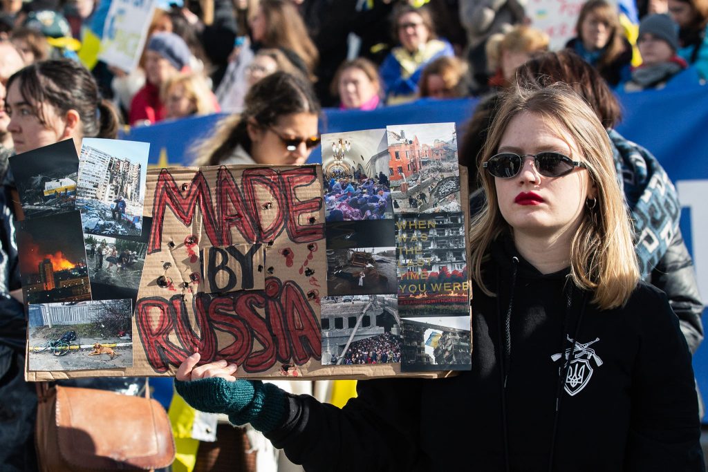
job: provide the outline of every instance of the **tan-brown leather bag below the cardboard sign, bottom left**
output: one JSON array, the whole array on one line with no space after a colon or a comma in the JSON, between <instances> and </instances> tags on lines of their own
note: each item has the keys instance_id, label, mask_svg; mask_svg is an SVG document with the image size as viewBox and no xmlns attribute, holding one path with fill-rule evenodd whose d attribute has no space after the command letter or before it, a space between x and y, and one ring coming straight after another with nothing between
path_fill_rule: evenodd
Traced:
<instances>
[{"instance_id":1,"label":"tan-brown leather bag below the cardboard sign, bottom left","mask_svg":"<svg viewBox=\"0 0 708 472\"><path fill-rule=\"evenodd\" d=\"M111 391L40 384L35 434L42 472L151 471L175 458L164 408Z\"/></svg>"}]
</instances>

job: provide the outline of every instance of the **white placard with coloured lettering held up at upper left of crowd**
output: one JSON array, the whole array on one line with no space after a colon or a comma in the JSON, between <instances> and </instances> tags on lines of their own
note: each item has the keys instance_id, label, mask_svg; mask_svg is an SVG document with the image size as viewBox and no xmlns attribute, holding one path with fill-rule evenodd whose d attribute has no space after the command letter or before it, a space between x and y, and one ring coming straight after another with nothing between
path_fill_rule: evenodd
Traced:
<instances>
[{"instance_id":1,"label":"white placard with coloured lettering held up at upper left of crowd","mask_svg":"<svg viewBox=\"0 0 708 472\"><path fill-rule=\"evenodd\" d=\"M111 0L98 59L126 72L140 60L156 0Z\"/></svg>"}]
</instances>

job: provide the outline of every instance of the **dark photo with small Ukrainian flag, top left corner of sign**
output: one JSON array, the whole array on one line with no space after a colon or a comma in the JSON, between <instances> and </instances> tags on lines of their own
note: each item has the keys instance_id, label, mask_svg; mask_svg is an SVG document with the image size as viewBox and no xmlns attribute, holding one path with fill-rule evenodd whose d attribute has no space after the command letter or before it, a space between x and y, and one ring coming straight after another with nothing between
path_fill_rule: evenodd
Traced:
<instances>
[{"instance_id":1,"label":"dark photo with small Ukrainian flag, top left corner of sign","mask_svg":"<svg viewBox=\"0 0 708 472\"><path fill-rule=\"evenodd\" d=\"M79 157L72 139L11 156L9 162L25 218L74 210Z\"/></svg>"}]
</instances>

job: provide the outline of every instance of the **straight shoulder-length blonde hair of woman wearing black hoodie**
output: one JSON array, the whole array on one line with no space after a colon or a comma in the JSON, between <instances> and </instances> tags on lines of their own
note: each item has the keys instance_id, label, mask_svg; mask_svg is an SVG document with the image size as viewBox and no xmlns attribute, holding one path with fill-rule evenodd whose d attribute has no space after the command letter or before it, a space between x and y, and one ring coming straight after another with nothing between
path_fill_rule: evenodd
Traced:
<instances>
[{"instance_id":1,"label":"straight shoulder-length blonde hair of woman wearing black hoodie","mask_svg":"<svg viewBox=\"0 0 708 472\"><path fill-rule=\"evenodd\" d=\"M632 244L632 226L624 195L617 185L612 147L605 128L587 103L565 84L545 88L516 86L508 91L491 125L481 162L497 153L509 123L521 113L535 115L544 120L556 136L571 139L569 147L578 149L581 154L571 158L586 163L597 190L595 206L593 209L584 207L583 221L571 243L573 283L593 292L593 304L600 309L624 305L639 282L639 268ZM491 294L481 277L482 258L492 241L504 233L513 235L513 230L499 209L495 178L481 165L479 174L487 201L472 222L472 270L479 287Z\"/></svg>"}]
</instances>

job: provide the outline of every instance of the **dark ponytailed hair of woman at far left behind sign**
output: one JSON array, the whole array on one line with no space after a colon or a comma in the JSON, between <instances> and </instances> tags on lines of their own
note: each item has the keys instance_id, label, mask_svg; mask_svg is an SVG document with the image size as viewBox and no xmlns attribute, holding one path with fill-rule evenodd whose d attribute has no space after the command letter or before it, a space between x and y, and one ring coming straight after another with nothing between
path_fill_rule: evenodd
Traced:
<instances>
[{"instance_id":1,"label":"dark ponytailed hair of woman at far left behind sign","mask_svg":"<svg viewBox=\"0 0 708 472\"><path fill-rule=\"evenodd\" d=\"M35 62L13 74L6 87L9 89L15 81L19 81L23 100L33 106L42 124L47 123L41 106L46 103L59 116L69 110L79 113L81 137L118 137L118 114L108 100L98 95L93 76L78 62L71 59Z\"/></svg>"}]
</instances>

